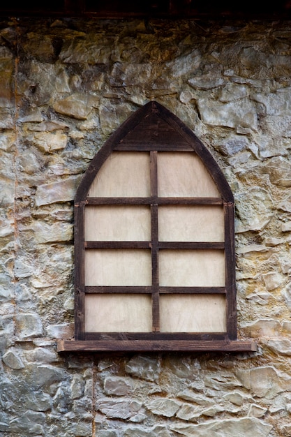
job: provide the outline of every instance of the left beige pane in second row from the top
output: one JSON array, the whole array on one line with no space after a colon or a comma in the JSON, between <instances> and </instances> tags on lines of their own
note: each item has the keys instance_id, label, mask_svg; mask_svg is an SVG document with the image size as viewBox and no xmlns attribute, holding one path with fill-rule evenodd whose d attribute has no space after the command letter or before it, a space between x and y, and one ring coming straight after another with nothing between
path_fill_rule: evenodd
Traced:
<instances>
[{"instance_id":1,"label":"left beige pane in second row from the top","mask_svg":"<svg viewBox=\"0 0 291 437\"><path fill-rule=\"evenodd\" d=\"M149 207L95 206L85 208L85 240L149 241Z\"/></svg>"}]
</instances>

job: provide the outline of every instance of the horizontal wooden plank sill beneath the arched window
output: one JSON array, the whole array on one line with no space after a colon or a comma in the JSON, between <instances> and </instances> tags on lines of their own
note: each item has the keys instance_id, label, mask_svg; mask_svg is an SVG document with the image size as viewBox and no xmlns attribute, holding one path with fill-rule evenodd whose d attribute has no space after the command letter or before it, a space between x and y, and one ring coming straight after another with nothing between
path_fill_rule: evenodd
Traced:
<instances>
[{"instance_id":1,"label":"horizontal wooden plank sill beneath the arched window","mask_svg":"<svg viewBox=\"0 0 291 437\"><path fill-rule=\"evenodd\" d=\"M105 352L105 351L221 351L255 352L257 344L251 340L192 341L192 340L59 340L57 352Z\"/></svg>"}]
</instances>

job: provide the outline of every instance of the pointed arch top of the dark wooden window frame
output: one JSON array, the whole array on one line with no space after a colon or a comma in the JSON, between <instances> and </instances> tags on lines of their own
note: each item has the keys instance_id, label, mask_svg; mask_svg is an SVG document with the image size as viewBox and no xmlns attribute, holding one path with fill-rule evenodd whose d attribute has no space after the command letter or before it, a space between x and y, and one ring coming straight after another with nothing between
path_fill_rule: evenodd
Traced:
<instances>
[{"instance_id":1,"label":"pointed arch top of the dark wooden window frame","mask_svg":"<svg viewBox=\"0 0 291 437\"><path fill-rule=\"evenodd\" d=\"M112 151L195 151L218 187L223 202L234 202L223 172L197 136L161 103L150 101L134 112L97 152L77 189L84 200L94 177Z\"/></svg>"}]
</instances>

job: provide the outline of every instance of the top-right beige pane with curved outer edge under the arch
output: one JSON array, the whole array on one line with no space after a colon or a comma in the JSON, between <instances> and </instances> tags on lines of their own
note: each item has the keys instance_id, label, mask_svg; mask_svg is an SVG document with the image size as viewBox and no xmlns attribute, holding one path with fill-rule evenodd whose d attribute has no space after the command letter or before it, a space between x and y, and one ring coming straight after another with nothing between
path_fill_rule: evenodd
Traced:
<instances>
[{"instance_id":1,"label":"top-right beige pane with curved outer edge under the arch","mask_svg":"<svg viewBox=\"0 0 291 437\"><path fill-rule=\"evenodd\" d=\"M221 197L207 168L194 152L158 153L158 195Z\"/></svg>"}]
</instances>

